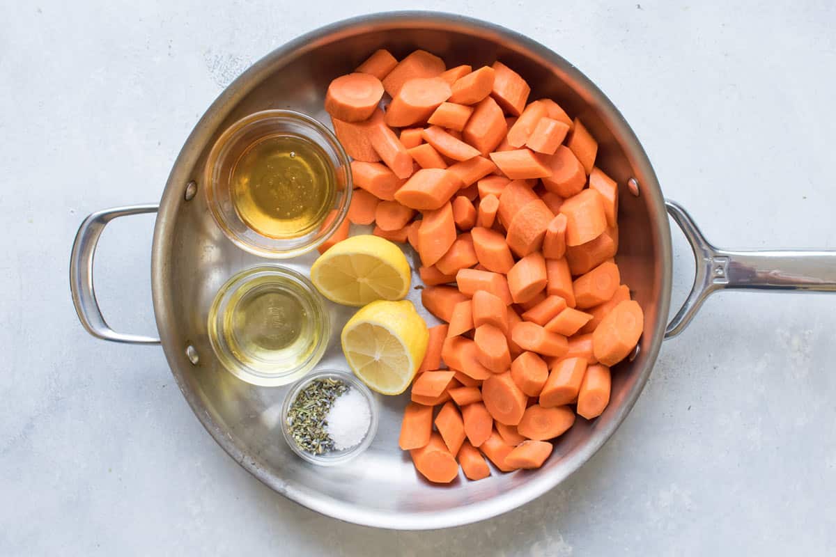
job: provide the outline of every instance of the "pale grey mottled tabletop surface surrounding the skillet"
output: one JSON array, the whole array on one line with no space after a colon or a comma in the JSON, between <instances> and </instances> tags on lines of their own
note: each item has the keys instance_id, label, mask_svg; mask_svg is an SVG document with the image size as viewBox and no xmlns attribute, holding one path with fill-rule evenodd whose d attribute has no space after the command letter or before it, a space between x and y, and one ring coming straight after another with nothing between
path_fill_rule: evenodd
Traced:
<instances>
[{"instance_id":1,"label":"pale grey mottled tabletop surface surrounding the skillet","mask_svg":"<svg viewBox=\"0 0 836 557\"><path fill-rule=\"evenodd\" d=\"M721 246L836 246L836 10L773 3L431 1L575 63ZM201 428L158 347L79 326L89 212L153 202L203 111L300 33L398 2L0 3L0 554L826 554L836 549L836 296L725 294L665 342L579 473L482 524L339 523ZM176 5L172 5L176 4ZM732 5L734 4L734 5ZM788 3L789 4L789 3ZM100 244L119 330L154 331L152 217ZM675 233L675 300L692 276Z\"/></svg>"}]
</instances>

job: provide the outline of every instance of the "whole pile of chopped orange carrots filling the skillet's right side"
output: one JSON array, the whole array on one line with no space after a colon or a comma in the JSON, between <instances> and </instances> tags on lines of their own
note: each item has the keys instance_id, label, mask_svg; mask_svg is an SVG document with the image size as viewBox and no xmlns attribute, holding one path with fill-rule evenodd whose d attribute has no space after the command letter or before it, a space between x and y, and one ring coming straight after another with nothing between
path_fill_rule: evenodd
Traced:
<instances>
[{"instance_id":1,"label":"whole pile of chopped orange carrots filling the skillet's right side","mask_svg":"<svg viewBox=\"0 0 836 557\"><path fill-rule=\"evenodd\" d=\"M447 69L423 50L378 50L328 89L359 188L349 220L415 248L423 304L446 322L400 430L431 482L486 478L485 457L539 468L576 415L604 412L609 367L644 327L613 259L618 185L598 143L530 91L501 62Z\"/></svg>"}]
</instances>

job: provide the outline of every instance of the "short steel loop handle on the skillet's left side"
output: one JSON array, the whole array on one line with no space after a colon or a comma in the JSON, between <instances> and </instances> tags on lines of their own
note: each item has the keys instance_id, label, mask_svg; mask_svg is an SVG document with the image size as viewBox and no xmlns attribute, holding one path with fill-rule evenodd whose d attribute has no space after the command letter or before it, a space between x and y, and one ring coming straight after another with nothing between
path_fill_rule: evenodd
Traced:
<instances>
[{"instance_id":1,"label":"short steel loop handle on the skillet's left side","mask_svg":"<svg viewBox=\"0 0 836 557\"><path fill-rule=\"evenodd\" d=\"M128 344L160 344L159 338L127 335L111 329L104 321L93 289L93 257L104 227L120 216L155 213L158 208L159 205L132 205L100 210L89 215L79 226L73 242L73 251L69 256L69 290L73 295L79 321L94 337Z\"/></svg>"}]
</instances>

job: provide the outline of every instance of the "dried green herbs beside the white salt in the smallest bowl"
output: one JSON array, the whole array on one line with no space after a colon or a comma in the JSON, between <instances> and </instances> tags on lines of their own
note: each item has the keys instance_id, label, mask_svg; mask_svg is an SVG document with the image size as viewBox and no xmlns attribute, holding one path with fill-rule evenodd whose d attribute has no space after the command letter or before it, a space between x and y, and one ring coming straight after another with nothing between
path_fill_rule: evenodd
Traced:
<instances>
[{"instance_id":1,"label":"dried green herbs beside the white salt in the smallest bowl","mask_svg":"<svg viewBox=\"0 0 836 557\"><path fill-rule=\"evenodd\" d=\"M349 387L339 379L323 378L304 387L288 410L288 430L299 448L322 454L334 450L334 440L325 430L325 417Z\"/></svg>"}]
</instances>

